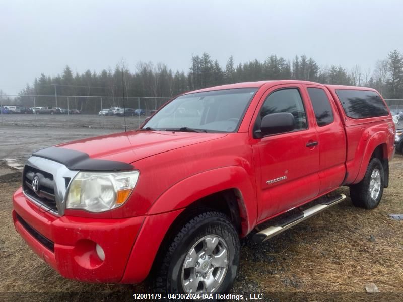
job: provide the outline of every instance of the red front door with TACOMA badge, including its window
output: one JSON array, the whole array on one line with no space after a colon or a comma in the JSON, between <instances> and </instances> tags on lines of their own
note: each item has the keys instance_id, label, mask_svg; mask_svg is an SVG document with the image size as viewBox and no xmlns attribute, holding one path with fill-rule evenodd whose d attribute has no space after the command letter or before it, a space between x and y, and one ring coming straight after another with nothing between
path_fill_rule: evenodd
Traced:
<instances>
[{"instance_id":1,"label":"red front door with TACOMA badge, including its window","mask_svg":"<svg viewBox=\"0 0 403 302\"><path fill-rule=\"evenodd\" d=\"M260 220L289 210L319 192L318 134L308 111L302 85L280 85L262 97L255 114L254 130L270 113L289 112L294 131L255 138L252 143L257 173Z\"/></svg>"}]
</instances>

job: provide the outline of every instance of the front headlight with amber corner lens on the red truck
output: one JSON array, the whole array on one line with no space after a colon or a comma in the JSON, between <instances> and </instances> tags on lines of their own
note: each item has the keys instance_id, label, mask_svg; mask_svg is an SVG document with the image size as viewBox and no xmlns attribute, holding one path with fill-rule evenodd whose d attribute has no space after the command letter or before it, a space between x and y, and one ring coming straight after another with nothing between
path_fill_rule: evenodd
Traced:
<instances>
[{"instance_id":1,"label":"front headlight with amber corner lens on the red truck","mask_svg":"<svg viewBox=\"0 0 403 302\"><path fill-rule=\"evenodd\" d=\"M79 172L72 180L66 208L104 212L122 205L139 179L139 171Z\"/></svg>"}]
</instances>

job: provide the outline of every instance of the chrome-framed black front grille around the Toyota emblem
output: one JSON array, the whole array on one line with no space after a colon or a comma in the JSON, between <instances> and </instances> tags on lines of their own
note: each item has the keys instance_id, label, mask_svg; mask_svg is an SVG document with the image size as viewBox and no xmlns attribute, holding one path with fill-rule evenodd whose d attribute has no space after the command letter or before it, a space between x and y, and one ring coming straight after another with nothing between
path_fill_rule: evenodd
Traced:
<instances>
[{"instance_id":1,"label":"chrome-framed black front grille around the Toyota emblem","mask_svg":"<svg viewBox=\"0 0 403 302\"><path fill-rule=\"evenodd\" d=\"M37 204L41 210L55 215L63 215L65 195L70 180L78 171L69 170L63 164L31 156L24 167L23 190L25 196ZM34 188L36 178L38 187Z\"/></svg>"}]
</instances>

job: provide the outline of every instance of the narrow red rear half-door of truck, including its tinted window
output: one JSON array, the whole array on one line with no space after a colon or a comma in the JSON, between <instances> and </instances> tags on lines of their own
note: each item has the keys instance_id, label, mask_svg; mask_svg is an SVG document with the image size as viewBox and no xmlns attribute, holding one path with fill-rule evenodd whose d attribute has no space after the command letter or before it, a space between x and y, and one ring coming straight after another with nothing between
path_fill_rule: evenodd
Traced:
<instances>
[{"instance_id":1,"label":"narrow red rear half-door of truck, including its tinted window","mask_svg":"<svg viewBox=\"0 0 403 302\"><path fill-rule=\"evenodd\" d=\"M319 194L339 187L346 175L346 136L333 98L323 86L304 85L319 135Z\"/></svg>"}]
</instances>

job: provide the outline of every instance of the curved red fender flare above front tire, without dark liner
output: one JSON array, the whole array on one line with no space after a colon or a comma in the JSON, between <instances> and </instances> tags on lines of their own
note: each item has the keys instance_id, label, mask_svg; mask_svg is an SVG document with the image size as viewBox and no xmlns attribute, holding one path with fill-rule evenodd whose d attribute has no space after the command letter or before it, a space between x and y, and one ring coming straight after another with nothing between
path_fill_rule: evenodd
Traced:
<instances>
[{"instance_id":1,"label":"curved red fender flare above front tire, without dark liner","mask_svg":"<svg viewBox=\"0 0 403 302\"><path fill-rule=\"evenodd\" d=\"M257 204L253 175L239 166L204 171L177 182L158 197L147 215L185 208L200 198L233 188L242 195L239 210L243 218L242 234L246 235L256 224Z\"/></svg>"}]
</instances>

